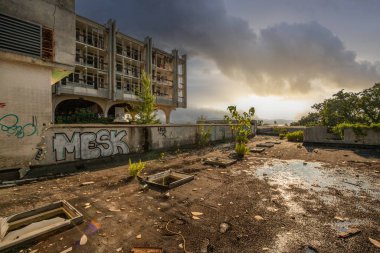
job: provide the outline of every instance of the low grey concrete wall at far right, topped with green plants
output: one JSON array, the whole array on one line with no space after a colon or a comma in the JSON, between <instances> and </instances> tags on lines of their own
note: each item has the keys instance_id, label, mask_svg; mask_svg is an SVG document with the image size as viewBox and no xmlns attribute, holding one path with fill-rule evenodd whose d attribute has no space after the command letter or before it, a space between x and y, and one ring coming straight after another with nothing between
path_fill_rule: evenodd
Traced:
<instances>
[{"instance_id":1,"label":"low grey concrete wall at far right, topped with green plants","mask_svg":"<svg viewBox=\"0 0 380 253\"><path fill-rule=\"evenodd\" d=\"M329 133L327 127L308 127L304 131L304 142L343 145L380 146L380 132L367 130L365 135L357 135L351 128L344 129L344 138Z\"/></svg>"}]
</instances>

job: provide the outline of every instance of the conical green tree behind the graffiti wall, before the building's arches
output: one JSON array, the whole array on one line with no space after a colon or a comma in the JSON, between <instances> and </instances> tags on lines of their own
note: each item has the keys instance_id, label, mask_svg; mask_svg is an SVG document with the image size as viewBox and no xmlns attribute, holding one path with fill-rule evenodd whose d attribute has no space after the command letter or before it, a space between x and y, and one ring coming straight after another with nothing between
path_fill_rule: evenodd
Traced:
<instances>
[{"instance_id":1,"label":"conical green tree behind the graffiti wall, before the building's arches","mask_svg":"<svg viewBox=\"0 0 380 253\"><path fill-rule=\"evenodd\" d=\"M136 106L137 123L138 124L157 124L159 123L156 118L156 106L154 103L155 97L152 93L150 76L142 72L141 76L141 92L138 93L138 97L142 100Z\"/></svg>"}]
</instances>

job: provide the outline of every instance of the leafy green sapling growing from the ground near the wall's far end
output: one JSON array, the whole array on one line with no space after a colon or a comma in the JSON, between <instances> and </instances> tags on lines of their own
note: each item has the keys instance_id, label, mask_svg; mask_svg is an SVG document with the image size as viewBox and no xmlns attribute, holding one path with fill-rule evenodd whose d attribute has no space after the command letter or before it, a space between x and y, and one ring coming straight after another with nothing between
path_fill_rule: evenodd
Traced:
<instances>
[{"instance_id":1,"label":"leafy green sapling growing from the ground near the wall's far end","mask_svg":"<svg viewBox=\"0 0 380 253\"><path fill-rule=\"evenodd\" d=\"M248 136L252 134L251 120L255 115L255 108L251 107L248 112L243 112L243 114L239 114L236 106L229 106L227 110L230 115L225 115L224 118L231 124L231 129L236 134L235 151L243 157L247 153Z\"/></svg>"}]
</instances>

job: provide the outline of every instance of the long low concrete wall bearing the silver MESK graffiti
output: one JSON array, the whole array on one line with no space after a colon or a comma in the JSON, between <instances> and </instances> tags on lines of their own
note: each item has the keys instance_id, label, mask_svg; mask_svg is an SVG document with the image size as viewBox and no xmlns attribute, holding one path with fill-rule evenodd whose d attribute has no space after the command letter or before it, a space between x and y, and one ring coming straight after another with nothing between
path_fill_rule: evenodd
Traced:
<instances>
[{"instance_id":1,"label":"long low concrete wall bearing the silver MESK graffiti","mask_svg":"<svg viewBox=\"0 0 380 253\"><path fill-rule=\"evenodd\" d=\"M210 141L231 139L230 125L55 125L35 148L32 166L52 165L197 144L202 131ZM253 130L254 126L252 126Z\"/></svg>"}]
</instances>

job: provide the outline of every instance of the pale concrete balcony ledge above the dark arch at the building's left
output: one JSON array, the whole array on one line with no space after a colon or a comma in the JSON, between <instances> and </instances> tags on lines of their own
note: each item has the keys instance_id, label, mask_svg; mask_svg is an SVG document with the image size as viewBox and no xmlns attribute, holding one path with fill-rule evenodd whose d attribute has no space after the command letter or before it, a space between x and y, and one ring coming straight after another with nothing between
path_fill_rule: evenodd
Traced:
<instances>
[{"instance_id":1,"label":"pale concrete balcony ledge above the dark arch at the building's left","mask_svg":"<svg viewBox=\"0 0 380 253\"><path fill-rule=\"evenodd\" d=\"M95 89L92 85L66 82L65 85L59 84L56 86L57 94L71 94L80 96L90 96L90 97L101 97L108 98L107 88L97 88Z\"/></svg>"}]
</instances>

